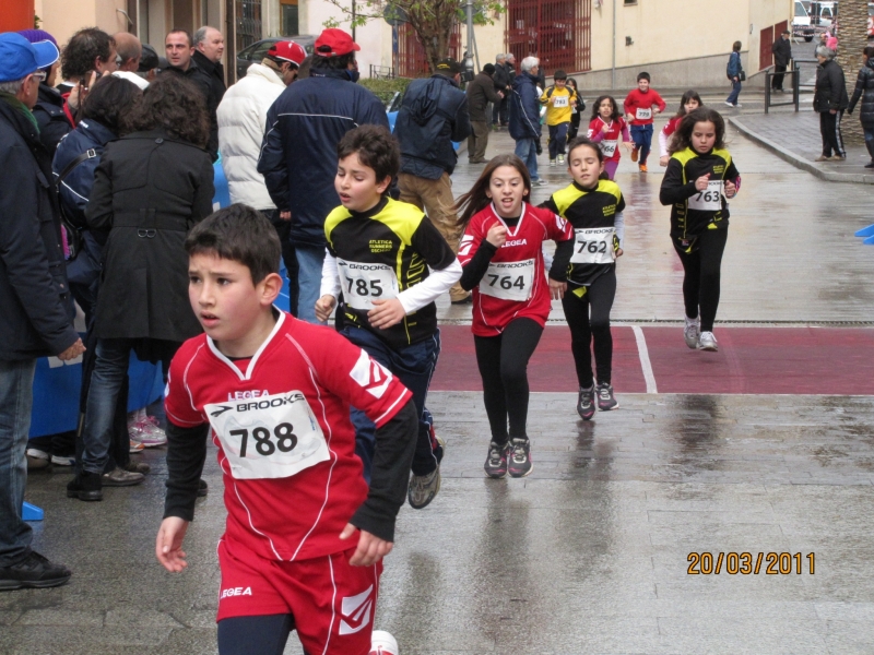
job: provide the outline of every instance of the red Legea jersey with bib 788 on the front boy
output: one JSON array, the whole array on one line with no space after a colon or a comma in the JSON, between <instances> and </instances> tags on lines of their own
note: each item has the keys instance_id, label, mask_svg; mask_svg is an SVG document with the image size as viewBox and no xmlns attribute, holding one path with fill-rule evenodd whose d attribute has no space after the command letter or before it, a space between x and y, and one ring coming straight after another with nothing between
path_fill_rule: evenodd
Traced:
<instances>
[{"instance_id":1,"label":"red Legea jersey with bib 788 on the front boy","mask_svg":"<svg viewBox=\"0 0 874 655\"><path fill-rule=\"evenodd\" d=\"M212 425L225 485L223 539L285 561L354 547L357 538L339 536L368 487L350 405L380 427L411 393L335 331L284 312L241 368L205 334L190 338L173 358L165 400L173 424Z\"/></svg>"}]
</instances>

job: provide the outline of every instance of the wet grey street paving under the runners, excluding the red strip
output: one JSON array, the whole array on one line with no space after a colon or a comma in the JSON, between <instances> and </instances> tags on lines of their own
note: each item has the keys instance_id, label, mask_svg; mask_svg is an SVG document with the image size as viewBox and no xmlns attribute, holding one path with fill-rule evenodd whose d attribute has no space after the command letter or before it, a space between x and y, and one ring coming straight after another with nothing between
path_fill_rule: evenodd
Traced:
<instances>
[{"instance_id":1,"label":"wet grey street paving under the runners, excluding the red strip","mask_svg":"<svg viewBox=\"0 0 874 655\"><path fill-rule=\"evenodd\" d=\"M493 133L487 154L511 147ZM751 321L761 331L855 322L870 336L874 249L852 237L871 222L867 188L817 179L734 129L729 148L743 187L717 335ZM649 323L682 320L682 272L656 200L658 162L635 168L626 157L617 178L629 209L613 315L657 335ZM456 193L479 169L462 162ZM562 169L541 170L551 184L535 202L568 183ZM440 315L464 323L470 308L441 300ZM800 370L813 347L796 348ZM729 344L723 353L727 366L737 361ZM656 370L670 369L669 353ZM477 383L430 394L448 442L442 489L427 509L401 511L375 620L404 655L874 652L871 396L621 393L618 410L583 422L575 394L533 393L533 473L488 480ZM107 489L101 503L64 498L70 475L58 467L31 475L27 500L46 511L35 546L74 575L57 590L0 594L0 653L216 652L215 451L181 575L153 553L164 451L138 456L153 466L145 484ZM299 652L292 636L286 653Z\"/></svg>"}]
</instances>

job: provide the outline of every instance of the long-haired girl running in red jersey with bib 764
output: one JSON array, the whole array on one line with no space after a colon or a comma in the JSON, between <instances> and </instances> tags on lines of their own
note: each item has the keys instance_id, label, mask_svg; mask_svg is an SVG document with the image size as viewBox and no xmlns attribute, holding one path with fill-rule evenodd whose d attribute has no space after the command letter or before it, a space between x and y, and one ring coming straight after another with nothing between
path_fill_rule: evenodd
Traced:
<instances>
[{"instance_id":1,"label":"long-haired girl running in red jersey with bib 764","mask_svg":"<svg viewBox=\"0 0 874 655\"><path fill-rule=\"evenodd\" d=\"M530 194L522 160L498 155L456 206L464 227L460 284L473 295L473 341L492 428L485 472L493 478L531 473L528 360L543 334L551 298L562 298L567 288L553 277L564 277L569 258L556 257L547 279L543 241L570 241L574 230L555 213L530 205Z\"/></svg>"}]
</instances>

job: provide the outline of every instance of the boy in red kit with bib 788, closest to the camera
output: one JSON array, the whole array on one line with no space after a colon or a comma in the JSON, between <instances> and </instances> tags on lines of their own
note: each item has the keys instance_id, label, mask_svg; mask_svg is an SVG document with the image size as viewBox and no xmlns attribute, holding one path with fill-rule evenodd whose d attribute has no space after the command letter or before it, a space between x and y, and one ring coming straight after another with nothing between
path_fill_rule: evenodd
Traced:
<instances>
[{"instance_id":1,"label":"boy in red kit with bib 788, closest to the camera","mask_svg":"<svg viewBox=\"0 0 874 655\"><path fill-rule=\"evenodd\" d=\"M218 652L281 655L296 628L310 655L366 655L415 448L411 394L335 332L275 309L281 247L255 210L216 212L186 250L206 334L170 365L157 559L173 572L187 565L182 539L211 431L227 508ZM350 405L377 426L369 491Z\"/></svg>"}]
</instances>

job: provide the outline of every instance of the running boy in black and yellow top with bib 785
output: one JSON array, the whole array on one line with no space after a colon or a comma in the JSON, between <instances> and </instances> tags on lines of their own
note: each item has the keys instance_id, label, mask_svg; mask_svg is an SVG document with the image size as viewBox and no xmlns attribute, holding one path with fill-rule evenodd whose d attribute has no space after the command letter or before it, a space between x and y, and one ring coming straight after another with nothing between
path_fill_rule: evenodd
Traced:
<instances>
[{"instance_id":1,"label":"running boy in black and yellow top with bib 785","mask_svg":"<svg viewBox=\"0 0 874 655\"><path fill-rule=\"evenodd\" d=\"M420 430L409 500L422 509L440 489L444 455L425 408L440 354L434 300L458 282L461 264L422 210L388 196L400 167L400 151L386 128L352 130L336 151L334 188L342 206L324 221L328 252L316 315L327 321L342 298L342 333L413 393ZM379 397L383 390L385 380L374 369L370 393ZM357 409L352 421L367 477L374 424Z\"/></svg>"}]
</instances>

